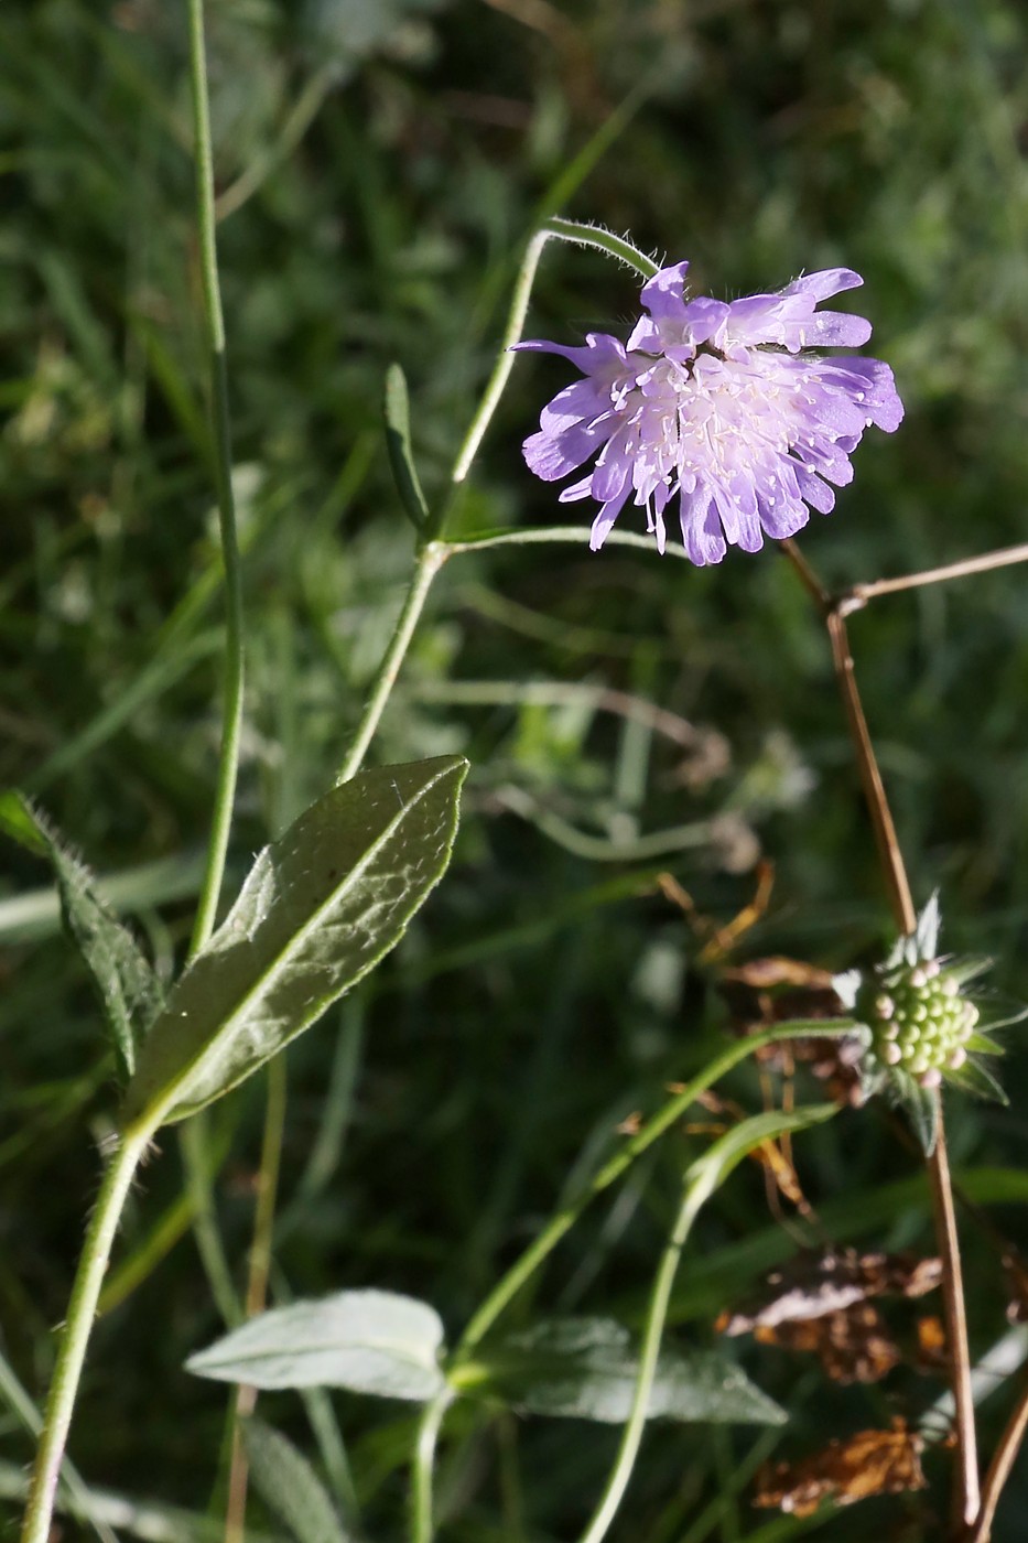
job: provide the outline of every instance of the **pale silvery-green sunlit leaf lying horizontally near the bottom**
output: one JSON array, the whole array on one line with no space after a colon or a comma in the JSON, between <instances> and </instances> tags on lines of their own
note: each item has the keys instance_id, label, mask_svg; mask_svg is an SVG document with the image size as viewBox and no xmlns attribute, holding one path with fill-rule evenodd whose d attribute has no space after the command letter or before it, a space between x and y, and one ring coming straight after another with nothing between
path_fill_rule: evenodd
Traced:
<instances>
[{"instance_id":1,"label":"pale silvery-green sunlit leaf lying horizontally near the bottom","mask_svg":"<svg viewBox=\"0 0 1028 1543\"><path fill-rule=\"evenodd\" d=\"M336 1291L247 1319L185 1362L196 1376L250 1387L349 1387L424 1403L446 1383L443 1324L414 1296Z\"/></svg>"}]
</instances>

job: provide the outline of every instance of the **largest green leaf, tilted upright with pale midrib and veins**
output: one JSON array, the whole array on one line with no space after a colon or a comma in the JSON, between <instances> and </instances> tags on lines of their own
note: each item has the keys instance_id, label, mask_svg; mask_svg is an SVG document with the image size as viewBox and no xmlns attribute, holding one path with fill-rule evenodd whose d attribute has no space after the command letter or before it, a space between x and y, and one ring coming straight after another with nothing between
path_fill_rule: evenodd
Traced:
<instances>
[{"instance_id":1,"label":"largest green leaf, tilted upright with pale midrib and veins","mask_svg":"<svg viewBox=\"0 0 1028 1543\"><path fill-rule=\"evenodd\" d=\"M219 1099L389 952L449 863L466 770L435 756L363 772L261 852L153 1025L127 1125Z\"/></svg>"}]
</instances>

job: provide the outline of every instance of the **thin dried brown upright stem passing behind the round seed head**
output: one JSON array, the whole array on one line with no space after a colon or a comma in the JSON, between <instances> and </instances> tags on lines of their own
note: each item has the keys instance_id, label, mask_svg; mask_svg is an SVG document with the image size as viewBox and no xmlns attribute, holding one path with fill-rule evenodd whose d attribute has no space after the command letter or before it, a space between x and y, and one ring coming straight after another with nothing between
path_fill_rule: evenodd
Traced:
<instances>
[{"instance_id":1,"label":"thin dried brown upright stem passing behind the round seed head","mask_svg":"<svg viewBox=\"0 0 1028 1543\"><path fill-rule=\"evenodd\" d=\"M804 588L812 596L832 643L832 662L835 679L846 708L850 739L857 753L860 781L875 832L878 859L889 889L892 912L901 932L914 932L917 913L911 896L911 886L906 876L906 864L895 833L889 799L886 796L881 772L875 758L867 719L864 717L854 657L846 631L846 609L854 609L852 596L834 600L824 585L818 580L810 565L800 555L792 542L783 542L786 557L796 569ZM1025 549L1028 554L1028 548ZM996 554L994 554L996 555ZM992 565L996 566L996 565ZM921 579L925 576L920 576ZM883 580L888 583L889 580ZM867 586L864 586L866 589ZM877 591L883 593L883 591ZM855 594L855 591L854 591ZM963 1299L963 1271L960 1267L960 1244L957 1236L957 1219L952 1204L952 1185L949 1180L949 1157L946 1153L946 1129L943 1123L942 1103L938 1106L938 1126L935 1150L928 1159L928 1173L932 1193L932 1211L935 1221L935 1239L943 1264L943 1305L946 1316L946 1335L952 1362L952 1398L957 1427L957 1467L954 1475L954 1521L969 1528L976 1523L980 1511L979 1492L979 1457L977 1432L974 1427L974 1395L971 1389L971 1352L968 1345L968 1316ZM1005 1475L1003 1475L1005 1477Z\"/></svg>"}]
</instances>

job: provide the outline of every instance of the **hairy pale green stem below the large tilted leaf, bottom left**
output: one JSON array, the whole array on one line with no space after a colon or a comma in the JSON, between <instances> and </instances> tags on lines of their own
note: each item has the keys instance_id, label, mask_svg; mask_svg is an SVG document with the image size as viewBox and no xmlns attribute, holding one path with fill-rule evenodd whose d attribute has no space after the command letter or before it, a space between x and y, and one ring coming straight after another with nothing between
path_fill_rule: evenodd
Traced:
<instances>
[{"instance_id":1,"label":"hairy pale green stem below the large tilted leaf, bottom left","mask_svg":"<svg viewBox=\"0 0 1028 1543\"><path fill-rule=\"evenodd\" d=\"M151 1134L153 1128L148 1125L125 1133L120 1146L111 1157L96 1199L68 1302L68 1316L60 1332L54 1376L43 1415L43 1432L29 1484L22 1543L46 1543L49 1537L60 1464L107 1262L125 1196Z\"/></svg>"}]
</instances>

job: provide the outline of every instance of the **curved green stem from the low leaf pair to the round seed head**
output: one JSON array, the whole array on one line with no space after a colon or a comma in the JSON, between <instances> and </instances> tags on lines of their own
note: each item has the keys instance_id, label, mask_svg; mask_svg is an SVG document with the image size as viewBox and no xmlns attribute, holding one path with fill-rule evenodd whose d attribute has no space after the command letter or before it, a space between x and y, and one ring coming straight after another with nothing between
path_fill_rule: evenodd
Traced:
<instances>
[{"instance_id":1,"label":"curved green stem from the low leaf pair to the round seed head","mask_svg":"<svg viewBox=\"0 0 1028 1543\"><path fill-rule=\"evenodd\" d=\"M579 1216L585 1211L591 1200L604 1190L608 1190L611 1183L621 1179L622 1173L641 1157L653 1143L664 1136L664 1133L675 1125L678 1119L688 1109L692 1103L696 1102L701 1092L705 1092L712 1083L724 1077L725 1072L738 1066L741 1060L752 1055L753 1051L761 1049L764 1045L773 1045L778 1040L795 1038L798 1034L804 1037L824 1035L826 1038L837 1038L840 1034L846 1034L852 1028L849 1018L835 1018L830 1023L824 1020L798 1020L790 1023L779 1023L773 1029L766 1029L763 1034L750 1034L746 1038L738 1040L730 1045L721 1055L716 1055L704 1069L688 1082L681 1092L675 1094L662 1109L659 1109L651 1120L648 1120L642 1129L628 1140L621 1151L607 1162L590 1185L582 1190L582 1193L568 1200L543 1227L539 1236L528 1245L523 1254L514 1261L511 1268L497 1282L489 1296L485 1299L478 1312L474 1315L454 1353L454 1362L466 1359L474 1347L485 1338L492 1324L497 1321L500 1313L508 1307L508 1304L517 1296L526 1281L536 1273L539 1265L553 1250L557 1247L560 1239L574 1227Z\"/></svg>"}]
</instances>

